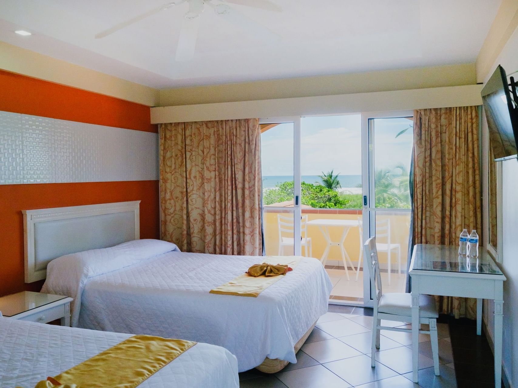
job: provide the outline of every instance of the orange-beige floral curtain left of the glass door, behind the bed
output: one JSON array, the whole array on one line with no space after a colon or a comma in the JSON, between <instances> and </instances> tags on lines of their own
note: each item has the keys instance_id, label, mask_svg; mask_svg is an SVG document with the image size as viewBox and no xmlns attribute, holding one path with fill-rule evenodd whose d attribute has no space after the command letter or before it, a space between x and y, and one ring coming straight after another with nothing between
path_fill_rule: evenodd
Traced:
<instances>
[{"instance_id":1,"label":"orange-beige floral curtain left of the glass door, behind the bed","mask_svg":"<svg viewBox=\"0 0 518 388\"><path fill-rule=\"evenodd\" d=\"M256 118L160 125L161 238L182 251L262 254Z\"/></svg>"}]
</instances>

